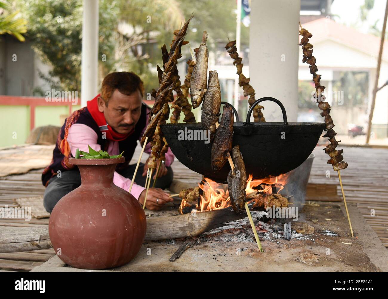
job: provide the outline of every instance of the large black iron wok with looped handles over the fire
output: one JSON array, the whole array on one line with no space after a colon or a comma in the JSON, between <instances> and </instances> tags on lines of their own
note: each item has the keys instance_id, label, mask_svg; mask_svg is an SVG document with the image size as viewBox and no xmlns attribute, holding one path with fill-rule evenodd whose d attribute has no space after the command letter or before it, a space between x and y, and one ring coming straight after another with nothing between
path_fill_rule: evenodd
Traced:
<instances>
[{"instance_id":1,"label":"large black iron wok with looped handles over the fire","mask_svg":"<svg viewBox=\"0 0 388 299\"><path fill-rule=\"evenodd\" d=\"M253 108L262 101L274 101L283 114L283 122L250 122ZM229 104L230 105L230 104ZM236 110L234 113L236 114ZM236 120L238 116L236 115ZM301 165L312 153L325 127L323 123L287 122L286 110L275 98L261 98L249 108L246 122L235 121L233 145L240 145L246 173L254 179L285 174ZM211 143L203 140L178 140L182 131L203 130L201 123L161 126L166 141L177 159L199 174L219 183L227 182L226 163L220 171L211 168ZM195 132L195 131L194 131Z\"/></svg>"}]
</instances>

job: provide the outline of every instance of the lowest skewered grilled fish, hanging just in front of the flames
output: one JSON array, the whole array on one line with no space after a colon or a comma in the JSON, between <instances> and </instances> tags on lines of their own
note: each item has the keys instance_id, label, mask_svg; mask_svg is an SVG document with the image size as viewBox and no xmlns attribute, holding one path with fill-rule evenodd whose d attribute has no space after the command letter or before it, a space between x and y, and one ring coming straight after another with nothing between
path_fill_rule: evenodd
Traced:
<instances>
[{"instance_id":1,"label":"lowest skewered grilled fish, hanging just in front of the flames","mask_svg":"<svg viewBox=\"0 0 388 299\"><path fill-rule=\"evenodd\" d=\"M228 175L228 190L232 208L239 214L243 211L246 201L246 171L239 145L233 147L232 159L234 170L230 170Z\"/></svg>"}]
</instances>

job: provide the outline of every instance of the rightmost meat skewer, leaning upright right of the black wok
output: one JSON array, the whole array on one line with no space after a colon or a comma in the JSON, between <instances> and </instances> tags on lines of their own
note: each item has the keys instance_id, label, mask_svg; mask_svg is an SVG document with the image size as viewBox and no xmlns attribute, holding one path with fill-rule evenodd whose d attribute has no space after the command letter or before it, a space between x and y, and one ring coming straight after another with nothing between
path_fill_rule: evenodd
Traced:
<instances>
[{"instance_id":1,"label":"rightmost meat skewer, leaning upright right of the black wok","mask_svg":"<svg viewBox=\"0 0 388 299\"><path fill-rule=\"evenodd\" d=\"M322 93L325 90L325 86L320 85L321 75L317 74L318 68L315 65L316 59L312 55L313 45L308 42L309 39L312 38L312 34L308 32L306 29L302 28L302 25L300 24L300 22L299 22L299 26L300 26L299 35L303 36L299 44L300 46L302 46L302 52L303 52L302 61L310 64L309 66L310 74L313 75L313 81L316 89L314 93L314 98L318 102L318 108L322 110L320 115L325 118L325 131L327 132L323 137L329 137L329 141L330 141L330 144L327 145L326 148L324 148L325 153L330 156L330 159L327 160L327 163L333 165L334 171L338 172L338 179L340 180L342 197L345 203L345 210L346 210L346 215L348 217L350 232L352 234L352 237L354 237L352 223L350 222L348 206L346 205L345 193L343 191L341 174L340 174L340 170L348 167L348 163L343 161L343 156L342 156L343 149L341 149L340 151L336 150L336 147L338 146L338 143L341 142L341 140L336 141L335 136L337 135L337 133L333 129L334 123L333 123L333 119L330 116L330 110L331 110L330 105L329 103L325 102L326 98L324 95L322 95Z\"/></svg>"}]
</instances>

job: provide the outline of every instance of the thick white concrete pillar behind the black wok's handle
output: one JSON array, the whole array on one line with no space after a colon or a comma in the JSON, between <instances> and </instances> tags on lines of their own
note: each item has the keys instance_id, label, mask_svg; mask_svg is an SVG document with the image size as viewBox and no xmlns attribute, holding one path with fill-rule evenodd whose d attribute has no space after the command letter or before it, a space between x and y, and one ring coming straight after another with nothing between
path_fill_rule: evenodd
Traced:
<instances>
[{"instance_id":1,"label":"thick white concrete pillar behind the black wok's handle","mask_svg":"<svg viewBox=\"0 0 388 299\"><path fill-rule=\"evenodd\" d=\"M298 113L300 0L251 2L249 76L256 99L271 96L282 102L289 122ZM280 122L282 113L274 102L264 101L267 122Z\"/></svg>"}]
</instances>

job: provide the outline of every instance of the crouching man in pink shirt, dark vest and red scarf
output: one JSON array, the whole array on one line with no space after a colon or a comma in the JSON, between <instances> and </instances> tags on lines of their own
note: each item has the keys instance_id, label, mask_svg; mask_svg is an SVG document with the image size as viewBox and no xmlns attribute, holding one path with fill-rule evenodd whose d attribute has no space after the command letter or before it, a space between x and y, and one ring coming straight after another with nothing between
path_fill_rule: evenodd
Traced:
<instances>
[{"instance_id":1,"label":"crouching man in pink shirt, dark vest and red scarf","mask_svg":"<svg viewBox=\"0 0 388 299\"><path fill-rule=\"evenodd\" d=\"M43 204L51 213L55 204L63 196L81 185L78 167L69 163L79 148L88 152L92 149L107 151L118 155L125 151L125 163L118 164L113 182L116 186L129 191L136 163L129 165L133 153L148 124L150 108L142 102L144 86L141 79L132 72L113 72L102 81L101 94L87 102L87 107L73 112L66 120L58 135L51 165L42 174L46 186ZM150 143L145 153L151 153ZM170 167L174 160L171 150L166 153L155 188L150 188L145 206L150 210L161 208L173 199L162 189L170 186L173 171ZM148 160L147 160L148 162ZM164 161L163 161L164 162ZM158 161L158 165L161 163ZM139 165L131 194L143 204L145 200L145 178L147 163ZM151 186L155 176L151 179Z\"/></svg>"}]
</instances>

